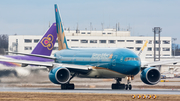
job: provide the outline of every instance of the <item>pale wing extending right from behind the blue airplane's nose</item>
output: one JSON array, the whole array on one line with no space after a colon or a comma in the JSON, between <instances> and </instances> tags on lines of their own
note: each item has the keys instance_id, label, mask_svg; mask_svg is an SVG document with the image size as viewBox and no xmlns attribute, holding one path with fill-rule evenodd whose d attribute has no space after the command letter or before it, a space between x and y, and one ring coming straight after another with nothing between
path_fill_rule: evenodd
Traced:
<instances>
[{"instance_id":1,"label":"pale wing extending right from behind the blue airplane's nose","mask_svg":"<svg viewBox=\"0 0 180 101\"><path fill-rule=\"evenodd\" d=\"M142 67L155 67L155 66L164 65L164 64L177 64L178 62L180 62L180 59L155 61L155 62L146 63L146 64L142 65Z\"/></svg>"}]
</instances>

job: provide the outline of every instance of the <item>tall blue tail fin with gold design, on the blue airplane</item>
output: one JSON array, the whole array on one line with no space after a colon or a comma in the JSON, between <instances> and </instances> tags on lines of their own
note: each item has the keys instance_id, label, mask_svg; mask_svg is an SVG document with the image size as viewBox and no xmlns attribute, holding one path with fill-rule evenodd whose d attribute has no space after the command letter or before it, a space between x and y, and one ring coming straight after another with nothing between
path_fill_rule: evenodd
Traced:
<instances>
[{"instance_id":1,"label":"tall blue tail fin with gold design, on the blue airplane","mask_svg":"<svg viewBox=\"0 0 180 101\"><path fill-rule=\"evenodd\" d=\"M57 27L57 37L58 37L58 50L68 49L57 4L54 5L54 8L55 8L55 18L56 18L56 27Z\"/></svg>"}]
</instances>

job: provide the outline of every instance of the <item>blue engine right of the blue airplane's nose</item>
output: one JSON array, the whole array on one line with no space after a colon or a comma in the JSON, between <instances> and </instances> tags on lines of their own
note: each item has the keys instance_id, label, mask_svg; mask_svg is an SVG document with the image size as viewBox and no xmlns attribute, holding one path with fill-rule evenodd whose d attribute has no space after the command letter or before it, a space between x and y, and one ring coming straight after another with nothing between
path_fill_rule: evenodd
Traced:
<instances>
[{"instance_id":1,"label":"blue engine right of the blue airplane's nose","mask_svg":"<svg viewBox=\"0 0 180 101\"><path fill-rule=\"evenodd\" d=\"M160 81L161 74L155 67L149 67L141 72L141 80L145 84L155 85Z\"/></svg>"}]
</instances>

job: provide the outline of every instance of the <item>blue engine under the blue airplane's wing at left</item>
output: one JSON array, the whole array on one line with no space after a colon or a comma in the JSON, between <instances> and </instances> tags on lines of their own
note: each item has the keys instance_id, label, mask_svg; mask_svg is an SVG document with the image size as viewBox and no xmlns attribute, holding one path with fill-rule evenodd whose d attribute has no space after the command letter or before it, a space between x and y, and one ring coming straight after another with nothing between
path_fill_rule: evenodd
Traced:
<instances>
[{"instance_id":1,"label":"blue engine under the blue airplane's wing at left","mask_svg":"<svg viewBox=\"0 0 180 101\"><path fill-rule=\"evenodd\" d=\"M65 67L53 68L49 73L49 79L55 84L68 83L70 77L70 71Z\"/></svg>"}]
</instances>

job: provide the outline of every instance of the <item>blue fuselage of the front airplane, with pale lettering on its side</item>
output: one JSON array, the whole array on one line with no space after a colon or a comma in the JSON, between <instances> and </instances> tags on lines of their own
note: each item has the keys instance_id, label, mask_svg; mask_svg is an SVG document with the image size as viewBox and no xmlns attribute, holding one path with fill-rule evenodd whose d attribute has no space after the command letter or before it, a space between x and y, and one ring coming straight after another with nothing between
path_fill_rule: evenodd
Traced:
<instances>
[{"instance_id":1,"label":"blue fuselage of the front airplane, with pale lettering on its side","mask_svg":"<svg viewBox=\"0 0 180 101\"><path fill-rule=\"evenodd\" d=\"M84 77L113 78L134 76L140 71L137 54L125 48L63 49L54 54L56 63L89 65L93 71Z\"/></svg>"}]
</instances>

